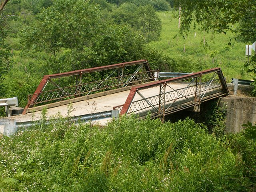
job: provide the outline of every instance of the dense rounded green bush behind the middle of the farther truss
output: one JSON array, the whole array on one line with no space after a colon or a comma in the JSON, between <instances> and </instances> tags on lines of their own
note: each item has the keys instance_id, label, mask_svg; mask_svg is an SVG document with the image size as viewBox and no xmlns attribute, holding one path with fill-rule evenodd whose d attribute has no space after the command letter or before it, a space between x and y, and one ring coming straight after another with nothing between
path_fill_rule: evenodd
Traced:
<instances>
[{"instance_id":1,"label":"dense rounded green bush behind the middle of the farther truss","mask_svg":"<svg viewBox=\"0 0 256 192\"><path fill-rule=\"evenodd\" d=\"M140 60L144 44L142 35L128 26L105 23L92 40L89 63L97 66Z\"/></svg>"}]
</instances>

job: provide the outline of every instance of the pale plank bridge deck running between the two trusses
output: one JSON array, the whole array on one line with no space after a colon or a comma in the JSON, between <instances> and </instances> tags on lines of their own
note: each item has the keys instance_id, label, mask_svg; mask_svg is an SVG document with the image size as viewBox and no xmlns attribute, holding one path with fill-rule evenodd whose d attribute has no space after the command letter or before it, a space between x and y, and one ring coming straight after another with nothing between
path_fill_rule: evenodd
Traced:
<instances>
[{"instance_id":1,"label":"pale plank bridge deck running between the two trusses","mask_svg":"<svg viewBox=\"0 0 256 192\"><path fill-rule=\"evenodd\" d=\"M184 83L183 84L170 83L170 85L174 89L184 88L187 86L187 84L184 84ZM110 111L113 109L114 106L119 106L124 104L129 92L130 90L126 90L126 91L117 92L110 95L105 95L97 98L74 102L72 103L73 110L71 112L71 116L81 116L81 115L92 114L96 112ZM154 96L159 93L159 87L148 88L145 90L141 90L141 92L143 93L143 95L146 95L148 97ZM139 100L141 98L137 94L134 99ZM63 117L66 117L68 114L68 104L47 109L47 115L46 115L47 118L51 118L57 114ZM12 116L10 118L2 118L0 120L0 132L3 131L4 122L8 122L8 120L11 118L15 119L16 122L26 122L26 121L32 121L32 120L40 120L41 116L42 116L42 110L37 112L30 112L24 115ZM108 120L110 120L110 118L103 119L103 120L96 120L96 121L104 125Z\"/></svg>"}]
</instances>

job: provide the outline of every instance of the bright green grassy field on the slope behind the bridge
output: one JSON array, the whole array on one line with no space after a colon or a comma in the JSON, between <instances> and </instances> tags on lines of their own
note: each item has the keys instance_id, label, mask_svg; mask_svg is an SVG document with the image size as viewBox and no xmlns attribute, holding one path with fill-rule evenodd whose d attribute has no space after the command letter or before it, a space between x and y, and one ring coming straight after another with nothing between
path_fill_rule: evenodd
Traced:
<instances>
[{"instance_id":1,"label":"bright green grassy field on the slope behind the bridge","mask_svg":"<svg viewBox=\"0 0 256 192\"><path fill-rule=\"evenodd\" d=\"M172 58L185 57L203 61L206 64L203 68L221 67L228 82L231 78L252 79L244 68L244 62L247 60L246 43L232 40L232 45L227 45L233 34L212 34L192 29L185 38L180 35L175 37L179 30L178 19L173 18L171 12L158 12L158 16L162 20L160 40L150 42L149 46L161 50Z\"/></svg>"}]
</instances>

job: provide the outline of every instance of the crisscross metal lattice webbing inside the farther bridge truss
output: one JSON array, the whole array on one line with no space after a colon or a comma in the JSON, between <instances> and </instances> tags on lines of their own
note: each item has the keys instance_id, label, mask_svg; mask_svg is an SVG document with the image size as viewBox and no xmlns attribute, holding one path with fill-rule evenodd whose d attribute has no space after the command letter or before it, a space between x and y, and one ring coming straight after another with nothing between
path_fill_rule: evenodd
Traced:
<instances>
[{"instance_id":1,"label":"crisscross metal lattice webbing inside the farther bridge truss","mask_svg":"<svg viewBox=\"0 0 256 192\"><path fill-rule=\"evenodd\" d=\"M154 78L154 73L157 71L158 70L146 71L144 69L144 65L140 64L139 67L135 70L135 72L134 70L128 70L128 72L126 72L124 68L118 68L112 70L112 73L110 73L109 75L105 74L106 78L102 80L96 80L93 82L82 83L85 81L82 78L82 74L76 76L69 76L66 79L64 79L65 82L70 82L70 78L73 78L73 80L75 80L76 83L78 82L78 84L66 87L60 87L60 85L63 84L63 82L58 83L58 79L56 79L55 82L50 79L46 84L48 85L48 87L44 88L44 91L40 92L39 94L35 93L29 95L28 103L39 104L43 102L49 102L63 98L73 98L74 96L84 96L98 91L105 91L130 86L133 84L144 83L148 82L149 80L152 80ZM87 75L91 76L92 74Z\"/></svg>"}]
</instances>

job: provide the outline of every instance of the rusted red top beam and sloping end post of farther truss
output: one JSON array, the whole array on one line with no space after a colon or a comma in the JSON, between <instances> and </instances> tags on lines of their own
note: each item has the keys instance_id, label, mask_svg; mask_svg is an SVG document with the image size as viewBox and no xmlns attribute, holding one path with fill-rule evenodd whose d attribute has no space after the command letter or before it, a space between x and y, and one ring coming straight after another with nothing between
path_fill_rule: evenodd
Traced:
<instances>
[{"instance_id":1,"label":"rusted red top beam and sloping end post of farther truss","mask_svg":"<svg viewBox=\"0 0 256 192\"><path fill-rule=\"evenodd\" d=\"M29 108L29 106L31 104L36 102L38 96L40 95L40 93L42 92L44 87L46 86L49 79L66 77L66 76L73 76L73 75L90 73L90 72L97 72L97 71L108 70L108 69L113 69L113 68L122 68L122 67L125 67L125 66L131 66L131 65L136 65L136 64L144 64L145 69L147 71L150 71L150 66L149 66L147 60L138 60L138 61L124 62L124 63L112 64L112 65L107 65L107 66L100 66L100 67L94 67L94 68L88 68L88 69L82 69L82 70L75 70L75 71L70 71L70 72L52 74L52 75L45 75L42 78L38 87L36 88L36 91L34 92L31 100L28 100L28 104L26 105L22 114L26 114L26 109Z\"/></svg>"}]
</instances>

